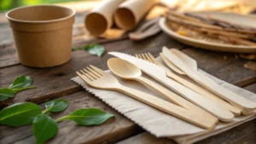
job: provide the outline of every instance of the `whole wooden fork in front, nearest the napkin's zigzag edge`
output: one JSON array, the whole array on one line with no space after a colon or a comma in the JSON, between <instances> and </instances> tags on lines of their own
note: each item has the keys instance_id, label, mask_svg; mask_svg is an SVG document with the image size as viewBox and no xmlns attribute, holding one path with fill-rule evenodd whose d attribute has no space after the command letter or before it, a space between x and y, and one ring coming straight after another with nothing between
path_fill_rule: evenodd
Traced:
<instances>
[{"instance_id":1,"label":"whole wooden fork in front, nearest the napkin's zigzag edge","mask_svg":"<svg viewBox=\"0 0 256 144\"><path fill-rule=\"evenodd\" d=\"M89 84L93 88L119 91L138 101L142 101L151 107L157 108L162 112L181 118L184 121L200 126L201 128L211 130L218 122L215 119L212 120L212 118L205 118L203 114L197 114L183 107L178 107L177 105L164 101L154 95L149 95L137 89L125 87L124 85L119 84L118 80L111 74L102 71L96 66L86 67L86 69L77 72L77 74L79 75L79 78L82 78L86 84Z\"/></svg>"}]
</instances>

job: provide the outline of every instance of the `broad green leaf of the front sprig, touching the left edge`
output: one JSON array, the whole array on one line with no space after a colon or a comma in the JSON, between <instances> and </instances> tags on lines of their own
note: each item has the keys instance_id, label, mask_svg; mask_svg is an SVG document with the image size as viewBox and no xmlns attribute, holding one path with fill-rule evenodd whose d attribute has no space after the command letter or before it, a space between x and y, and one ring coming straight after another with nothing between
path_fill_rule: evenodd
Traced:
<instances>
[{"instance_id":1,"label":"broad green leaf of the front sprig, touching the left edge","mask_svg":"<svg viewBox=\"0 0 256 144\"><path fill-rule=\"evenodd\" d=\"M0 112L0 124L8 126L32 124L33 119L41 113L41 107L34 103L16 103L12 106L3 108Z\"/></svg>"}]
</instances>

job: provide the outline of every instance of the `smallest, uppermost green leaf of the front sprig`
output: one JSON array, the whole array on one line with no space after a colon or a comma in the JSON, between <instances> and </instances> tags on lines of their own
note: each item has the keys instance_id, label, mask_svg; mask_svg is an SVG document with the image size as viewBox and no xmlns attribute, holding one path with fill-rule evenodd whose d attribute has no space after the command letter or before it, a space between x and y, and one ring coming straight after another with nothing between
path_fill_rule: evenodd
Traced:
<instances>
[{"instance_id":1,"label":"smallest, uppermost green leaf of the front sprig","mask_svg":"<svg viewBox=\"0 0 256 144\"><path fill-rule=\"evenodd\" d=\"M45 104L46 110L44 112L61 112L64 111L68 106L68 101L55 99L53 101L48 101Z\"/></svg>"}]
</instances>

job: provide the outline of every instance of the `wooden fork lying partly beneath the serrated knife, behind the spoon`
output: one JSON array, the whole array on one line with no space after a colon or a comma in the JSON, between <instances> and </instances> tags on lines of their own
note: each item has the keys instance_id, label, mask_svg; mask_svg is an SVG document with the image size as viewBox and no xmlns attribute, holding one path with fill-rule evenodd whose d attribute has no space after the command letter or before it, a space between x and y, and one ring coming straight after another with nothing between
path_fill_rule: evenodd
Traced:
<instances>
[{"instance_id":1,"label":"wooden fork lying partly beneath the serrated knife, behind the spoon","mask_svg":"<svg viewBox=\"0 0 256 144\"><path fill-rule=\"evenodd\" d=\"M227 108L228 110L230 110L230 112L233 112L236 116L241 114L241 110L233 107L229 102L222 100L221 98L219 98L217 95L212 94L211 92L207 91L206 89L202 89L201 87L190 83L189 81L179 77L177 74L175 74L174 72L172 72L169 68L167 68L166 66L162 65L159 61L155 60L154 56L151 55L150 53L144 53L144 54L137 54L136 55L137 58L143 59L143 60L148 60L149 62L152 62L158 66L163 67L166 70L166 76L169 78L174 79L175 81L177 81L180 84L183 84L184 86L186 86L189 89L194 90L195 92L197 92L200 95L203 95L205 97L207 97L208 99L212 100L212 101L216 101L218 102L220 105L223 105L225 108ZM160 57L165 60L165 55L162 55L160 53Z\"/></svg>"}]
</instances>

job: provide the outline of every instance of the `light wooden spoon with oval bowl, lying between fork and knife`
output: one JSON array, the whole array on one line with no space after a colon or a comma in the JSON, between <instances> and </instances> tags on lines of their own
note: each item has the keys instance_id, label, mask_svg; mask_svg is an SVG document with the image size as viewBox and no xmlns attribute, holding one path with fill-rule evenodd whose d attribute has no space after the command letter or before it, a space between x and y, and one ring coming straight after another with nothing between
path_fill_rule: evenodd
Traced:
<instances>
[{"instance_id":1,"label":"light wooden spoon with oval bowl, lying between fork and knife","mask_svg":"<svg viewBox=\"0 0 256 144\"><path fill-rule=\"evenodd\" d=\"M159 84L155 84L153 81L147 78L143 78L142 71L137 66L131 64L131 62L119 58L111 58L108 60L108 67L115 75L119 76L120 78L136 80L142 84L147 85L150 89L154 89L160 93L160 95L166 96L168 100L172 101L176 105L184 107L192 112L201 113L206 118L212 118L212 120L214 119L216 122L218 121L218 118L215 118L212 116L212 114L183 99L183 97L173 93L169 89L166 89Z\"/></svg>"}]
</instances>

